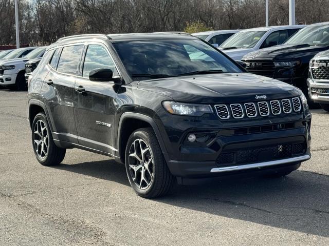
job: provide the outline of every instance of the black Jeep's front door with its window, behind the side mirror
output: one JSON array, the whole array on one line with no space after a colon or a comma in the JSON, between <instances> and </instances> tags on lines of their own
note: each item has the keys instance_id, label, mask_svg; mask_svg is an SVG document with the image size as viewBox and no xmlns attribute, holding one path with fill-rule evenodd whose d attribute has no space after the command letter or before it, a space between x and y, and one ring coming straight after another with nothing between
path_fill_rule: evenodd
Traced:
<instances>
[{"instance_id":1,"label":"black Jeep's front door with its window, behind the side mirror","mask_svg":"<svg viewBox=\"0 0 329 246\"><path fill-rule=\"evenodd\" d=\"M119 76L111 54L102 44L86 47L80 77L74 90L74 115L79 144L88 148L114 154L114 114L116 92L113 82L89 80L89 72L109 68Z\"/></svg>"}]
</instances>

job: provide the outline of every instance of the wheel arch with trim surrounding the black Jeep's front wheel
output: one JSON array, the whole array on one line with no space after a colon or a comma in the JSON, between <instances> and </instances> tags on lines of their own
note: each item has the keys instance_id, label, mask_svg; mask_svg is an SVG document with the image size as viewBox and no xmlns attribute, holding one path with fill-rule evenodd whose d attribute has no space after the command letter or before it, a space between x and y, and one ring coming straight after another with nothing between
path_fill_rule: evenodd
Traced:
<instances>
[{"instance_id":1,"label":"wheel arch with trim surrounding the black Jeep's front wheel","mask_svg":"<svg viewBox=\"0 0 329 246\"><path fill-rule=\"evenodd\" d=\"M119 156L120 162L124 163L126 142L130 135L137 129L144 127L150 127L153 129L154 134L159 142L163 156L165 156L165 159L168 159L165 143L162 139L159 128L156 125L155 121L150 116L144 114L126 112L123 113L120 117L117 133L117 156Z\"/></svg>"}]
</instances>

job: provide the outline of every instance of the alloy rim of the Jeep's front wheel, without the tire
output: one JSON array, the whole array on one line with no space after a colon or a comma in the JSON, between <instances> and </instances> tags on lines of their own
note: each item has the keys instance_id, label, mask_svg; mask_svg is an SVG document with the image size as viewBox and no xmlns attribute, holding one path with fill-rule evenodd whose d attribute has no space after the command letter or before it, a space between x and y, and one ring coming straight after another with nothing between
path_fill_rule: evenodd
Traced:
<instances>
[{"instance_id":1,"label":"alloy rim of the Jeep's front wheel, without the tire","mask_svg":"<svg viewBox=\"0 0 329 246\"><path fill-rule=\"evenodd\" d=\"M153 156L151 148L140 138L135 139L129 150L130 175L139 189L148 189L153 180Z\"/></svg>"}]
</instances>

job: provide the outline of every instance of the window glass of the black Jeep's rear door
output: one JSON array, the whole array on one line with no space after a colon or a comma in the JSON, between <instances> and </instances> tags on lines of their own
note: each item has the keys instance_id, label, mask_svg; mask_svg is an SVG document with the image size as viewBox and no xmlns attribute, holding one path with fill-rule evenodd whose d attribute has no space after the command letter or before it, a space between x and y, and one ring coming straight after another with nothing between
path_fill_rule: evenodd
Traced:
<instances>
[{"instance_id":1,"label":"window glass of the black Jeep's rear door","mask_svg":"<svg viewBox=\"0 0 329 246\"><path fill-rule=\"evenodd\" d=\"M76 75L82 50L83 45L64 47L58 61L57 71Z\"/></svg>"}]
</instances>

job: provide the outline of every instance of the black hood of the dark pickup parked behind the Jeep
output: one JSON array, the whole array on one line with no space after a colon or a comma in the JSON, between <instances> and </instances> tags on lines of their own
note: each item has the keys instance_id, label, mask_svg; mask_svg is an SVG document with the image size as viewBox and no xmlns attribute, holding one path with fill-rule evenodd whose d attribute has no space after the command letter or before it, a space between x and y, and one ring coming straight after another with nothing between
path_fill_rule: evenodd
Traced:
<instances>
[{"instance_id":1,"label":"black hood of the dark pickup parked behind the Jeep","mask_svg":"<svg viewBox=\"0 0 329 246\"><path fill-rule=\"evenodd\" d=\"M314 56L320 51L327 50L327 46L315 45L277 45L269 48L260 49L258 51L246 54L242 60L252 59L272 59L272 60L289 60L298 59L303 56Z\"/></svg>"}]
</instances>

